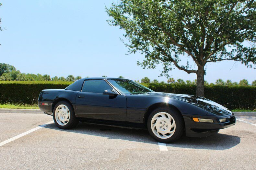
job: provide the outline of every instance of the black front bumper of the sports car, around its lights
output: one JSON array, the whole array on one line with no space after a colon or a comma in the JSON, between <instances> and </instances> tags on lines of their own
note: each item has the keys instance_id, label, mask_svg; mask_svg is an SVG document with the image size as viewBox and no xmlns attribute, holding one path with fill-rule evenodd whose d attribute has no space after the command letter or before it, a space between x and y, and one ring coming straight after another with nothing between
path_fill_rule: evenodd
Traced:
<instances>
[{"instance_id":1,"label":"black front bumper of the sports car, around its lights","mask_svg":"<svg viewBox=\"0 0 256 170\"><path fill-rule=\"evenodd\" d=\"M218 133L220 129L224 129L236 124L234 114L223 116L200 116L182 114L185 121L186 136L189 137L206 137ZM194 122L193 117L213 119L213 123ZM219 119L227 118L226 122L221 123Z\"/></svg>"}]
</instances>

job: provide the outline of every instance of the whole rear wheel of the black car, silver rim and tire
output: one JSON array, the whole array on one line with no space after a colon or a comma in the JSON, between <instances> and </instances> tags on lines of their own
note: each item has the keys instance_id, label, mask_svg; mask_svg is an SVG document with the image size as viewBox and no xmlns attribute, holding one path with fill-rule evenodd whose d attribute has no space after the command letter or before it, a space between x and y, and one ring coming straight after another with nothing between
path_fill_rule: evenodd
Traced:
<instances>
[{"instance_id":1,"label":"whole rear wheel of the black car, silver rim and tire","mask_svg":"<svg viewBox=\"0 0 256 170\"><path fill-rule=\"evenodd\" d=\"M53 120L55 125L61 129L73 128L79 122L75 116L73 106L66 101L60 101L55 105Z\"/></svg>"}]
</instances>

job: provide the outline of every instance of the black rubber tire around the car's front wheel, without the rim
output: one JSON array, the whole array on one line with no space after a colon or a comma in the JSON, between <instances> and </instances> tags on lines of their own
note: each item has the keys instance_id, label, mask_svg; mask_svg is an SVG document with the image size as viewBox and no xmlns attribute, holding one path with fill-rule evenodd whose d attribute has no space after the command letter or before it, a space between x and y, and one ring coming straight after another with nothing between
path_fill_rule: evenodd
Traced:
<instances>
[{"instance_id":1,"label":"black rubber tire around the car's front wheel, without the rim","mask_svg":"<svg viewBox=\"0 0 256 170\"><path fill-rule=\"evenodd\" d=\"M151 129L151 120L154 117L154 115L156 115L159 112L166 112L169 115L171 115L173 117L174 121L175 121L175 124L176 124L176 129L174 131L174 134L172 136L170 136L169 138L167 138L167 139L161 139L161 138L157 137ZM170 142L174 142L174 141L178 140L184 134L185 124L184 124L184 120L183 120L182 115L180 115L180 113L176 109L166 108L166 107L159 107L159 108L153 110L151 112L151 114L149 115L149 117L147 119L147 129L148 129L149 134L154 139L156 139L158 142L170 143Z\"/></svg>"}]
</instances>

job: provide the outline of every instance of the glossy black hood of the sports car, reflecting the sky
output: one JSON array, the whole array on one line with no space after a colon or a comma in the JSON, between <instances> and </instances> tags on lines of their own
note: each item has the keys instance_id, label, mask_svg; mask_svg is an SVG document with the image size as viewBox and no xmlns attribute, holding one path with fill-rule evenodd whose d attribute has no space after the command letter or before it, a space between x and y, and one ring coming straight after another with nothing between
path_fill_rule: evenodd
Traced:
<instances>
[{"instance_id":1,"label":"glossy black hood of the sports car, reflecting the sky","mask_svg":"<svg viewBox=\"0 0 256 170\"><path fill-rule=\"evenodd\" d=\"M217 104L214 101L211 101L203 97L194 96L194 95L182 95L182 94L161 93L161 92L148 92L148 93L142 93L139 95L154 95L159 97L161 96L161 97L168 97L168 98L181 100L181 101L190 103L192 105L198 106L215 115L227 115L232 113L226 107L220 104Z\"/></svg>"}]
</instances>

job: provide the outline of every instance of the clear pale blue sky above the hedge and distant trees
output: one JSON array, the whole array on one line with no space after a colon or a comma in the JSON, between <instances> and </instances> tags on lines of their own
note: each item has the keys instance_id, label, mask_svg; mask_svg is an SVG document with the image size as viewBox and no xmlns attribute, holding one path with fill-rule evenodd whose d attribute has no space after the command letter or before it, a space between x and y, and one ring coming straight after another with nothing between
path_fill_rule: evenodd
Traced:
<instances>
[{"instance_id":1,"label":"clear pale blue sky above the hedge and distant trees","mask_svg":"<svg viewBox=\"0 0 256 170\"><path fill-rule=\"evenodd\" d=\"M147 76L158 77L162 65L156 69L137 66L144 56L125 55L127 47L120 41L123 31L110 26L105 5L113 0L2 0L0 7L0 63L14 65L22 73L53 76L80 75L99 77L120 75L132 80ZM193 80L195 74L174 69L174 79ZM256 79L256 71L235 61L207 65L205 80L237 81L246 78L249 84Z\"/></svg>"}]
</instances>

